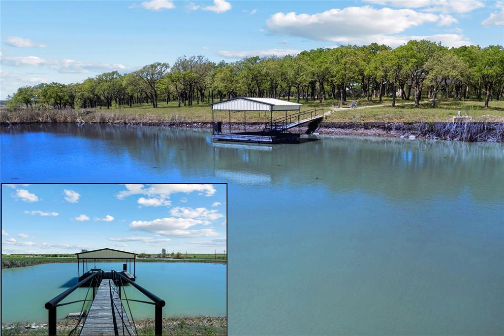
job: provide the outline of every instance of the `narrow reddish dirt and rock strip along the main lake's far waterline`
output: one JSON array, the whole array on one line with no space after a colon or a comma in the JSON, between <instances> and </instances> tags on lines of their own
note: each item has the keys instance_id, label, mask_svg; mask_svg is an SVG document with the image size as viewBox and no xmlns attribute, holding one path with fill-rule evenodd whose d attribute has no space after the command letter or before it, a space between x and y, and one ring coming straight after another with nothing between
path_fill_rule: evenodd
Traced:
<instances>
[{"instance_id":1,"label":"narrow reddish dirt and rock strip along the main lake's far waterline","mask_svg":"<svg viewBox=\"0 0 504 336\"><path fill-rule=\"evenodd\" d=\"M33 123L1 123L2 126L27 125ZM46 123L42 123L46 124ZM66 123L58 123L66 124ZM73 124L73 123L69 123ZM81 123L79 125L83 125ZM88 124L102 124L90 122ZM132 126L160 126L183 129L212 129L209 122L113 122L103 123L108 125L132 125ZM258 131L264 127L264 123L247 123L247 131ZM229 130L229 123L223 123L222 129ZM301 127L301 134L305 133L306 127ZM243 131L242 123L231 123L231 131ZM324 135L344 136L371 136L371 137L396 137L452 140L452 141L487 141L504 142L504 123L461 123L450 122L434 123L384 123L384 122L322 122L314 132Z\"/></svg>"}]
</instances>

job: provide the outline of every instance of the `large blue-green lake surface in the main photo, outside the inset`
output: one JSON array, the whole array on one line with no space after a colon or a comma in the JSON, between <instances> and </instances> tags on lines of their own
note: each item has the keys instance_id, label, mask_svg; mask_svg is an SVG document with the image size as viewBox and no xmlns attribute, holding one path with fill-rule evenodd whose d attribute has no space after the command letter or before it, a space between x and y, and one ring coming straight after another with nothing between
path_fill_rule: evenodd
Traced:
<instances>
[{"instance_id":1,"label":"large blue-green lake surface in the main photo, outside the inset","mask_svg":"<svg viewBox=\"0 0 504 336\"><path fill-rule=\"evenodd\" d=\"M228 182L229 334L504 334L502 144L31 125L1 145L6 183Z\"/></svg>"}]
</instances>

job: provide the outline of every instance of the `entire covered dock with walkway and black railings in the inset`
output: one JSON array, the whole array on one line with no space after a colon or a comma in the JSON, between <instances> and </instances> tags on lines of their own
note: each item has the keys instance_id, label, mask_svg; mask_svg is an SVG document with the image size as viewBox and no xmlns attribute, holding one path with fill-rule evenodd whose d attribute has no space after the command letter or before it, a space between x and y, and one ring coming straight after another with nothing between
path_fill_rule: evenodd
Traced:
<instances>
[{"instance_id":1,"label":"entire covered dock with walkway and black railings in the inset","mask_svg":"<svg viewBox=\"0 0 504 336\"><path fill-rule=\"evenodd\" d=\"M135 325L135 318L130 307L130 301L153 305L154 313L154 334L162 334L163 307L164 300L152 294L147 289L135 283L135 259L136 253L113 250L109 248L82 251L76 253L78 258L79 277L78 282L68 290L47 301L44 308L48 311L48 334L56 335L57 331L57 307L72 303L83 302L80 313L72 313L78 316L75 328L71 334L79 335L135 335L138 334ZM111 269L104 271L96 267L96 261L124 259L126 263L122 266L122 271ZM82 276L80 275L82 262ZM128 261L133 260L134 273L128 271ZM88 261L94 262L94 268L88 270ZM86 270L84 266L86 265ZM136 300L128 298L128 293L124 291L124 286L131 286L131 290L136 289L144 294L150 301ZM87 287L84 299L60 303L76 289ZM129 291L128 291L129 292ZM121 295L122 294L122 295ZM89 302L91 303L89 305ZM90 307L86 314L85 307ZM130 322L133 321L133 323Z\"/></svg>"}]
</instances>

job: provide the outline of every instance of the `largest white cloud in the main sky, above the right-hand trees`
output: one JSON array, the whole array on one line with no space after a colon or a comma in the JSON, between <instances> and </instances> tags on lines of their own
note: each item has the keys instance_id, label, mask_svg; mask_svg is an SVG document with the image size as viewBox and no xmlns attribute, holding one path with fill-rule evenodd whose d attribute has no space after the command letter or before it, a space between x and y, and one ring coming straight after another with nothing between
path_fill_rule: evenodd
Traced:
<instances>
[{"instance_id":1,"label":"largest white cloud in the main sky, above the right-hand trees","mask_svg":"<svg viewBox=\"0 0 504 336\"><path fill-rule=\"evenodd\" d=\"M273 34L333 41L340 44L371 42L393 44L388 42L403 38L403 36L393 34L404 32L408 28L424 23L438 23L446 26L455 22L455 18L445 14L363 6L331 9L311 15L294 12L276 13L266 21L266 26ZM406 39L410 38L406 37Z\"/></svg>"}]
</instances>

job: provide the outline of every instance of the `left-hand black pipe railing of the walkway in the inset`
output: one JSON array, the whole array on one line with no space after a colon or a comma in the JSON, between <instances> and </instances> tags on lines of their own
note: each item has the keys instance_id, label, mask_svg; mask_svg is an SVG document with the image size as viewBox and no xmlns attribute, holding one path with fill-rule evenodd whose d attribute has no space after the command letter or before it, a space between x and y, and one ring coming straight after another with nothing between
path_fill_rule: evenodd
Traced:
<instances>
[{"instance_id":1,"label":"left-hand black pipe railing of the walkway in the inset","mask_svg":"<svg viewBox=\"0 0 504 336\"><path fill-rule=\"evenodd\" d=\"M45 307L45 309L47 309L49 311L49 321L47 323L47 325L49 327L49 331L48 331L49 335L55 335L56 334L56 322L57 322L57 320L56 320L56 308L57 307L66 306L66 305L69 305L69 304L72 304L72 303L77 303L77 302L83 302L82 308L81 308L81 313L79 315L79 320L77 321L77 325L75 326L74 329L72 329L72 331L70 333L72 334L77 329L77 327L81 323L82 318L85 315L85 314L83 314L84 305L86 304L87 301L93 301L94 300L94 297L95 297L95 287L96 286L100 286L102 278L103 278L103 271L101 271L101 272L95 272L95 273L87 276L82 281L78 282L77 284L75 284L74 286L72 286L71 288L69 288L68 290L66 290L65 292L59 294L55 298L53 298L53 299L49 300L48 302L46 302L46 304L44 305L44 307ZM90 284L89 284L89 287L88 287L88 291L86 292L86 296L84 297L84 300L77 300L77 301L72 301L72 302L67 302L67 303L59 303L59 302L61 302L61 300L65 299L73 291L75 291L77 288L79 288L80 286L84 285L88 281L90 281ZM93 287L93 299L92 300L87 299L88 294L89 294L89 290L91 289L91 286Z\"/></svg>"}]
</instances>

